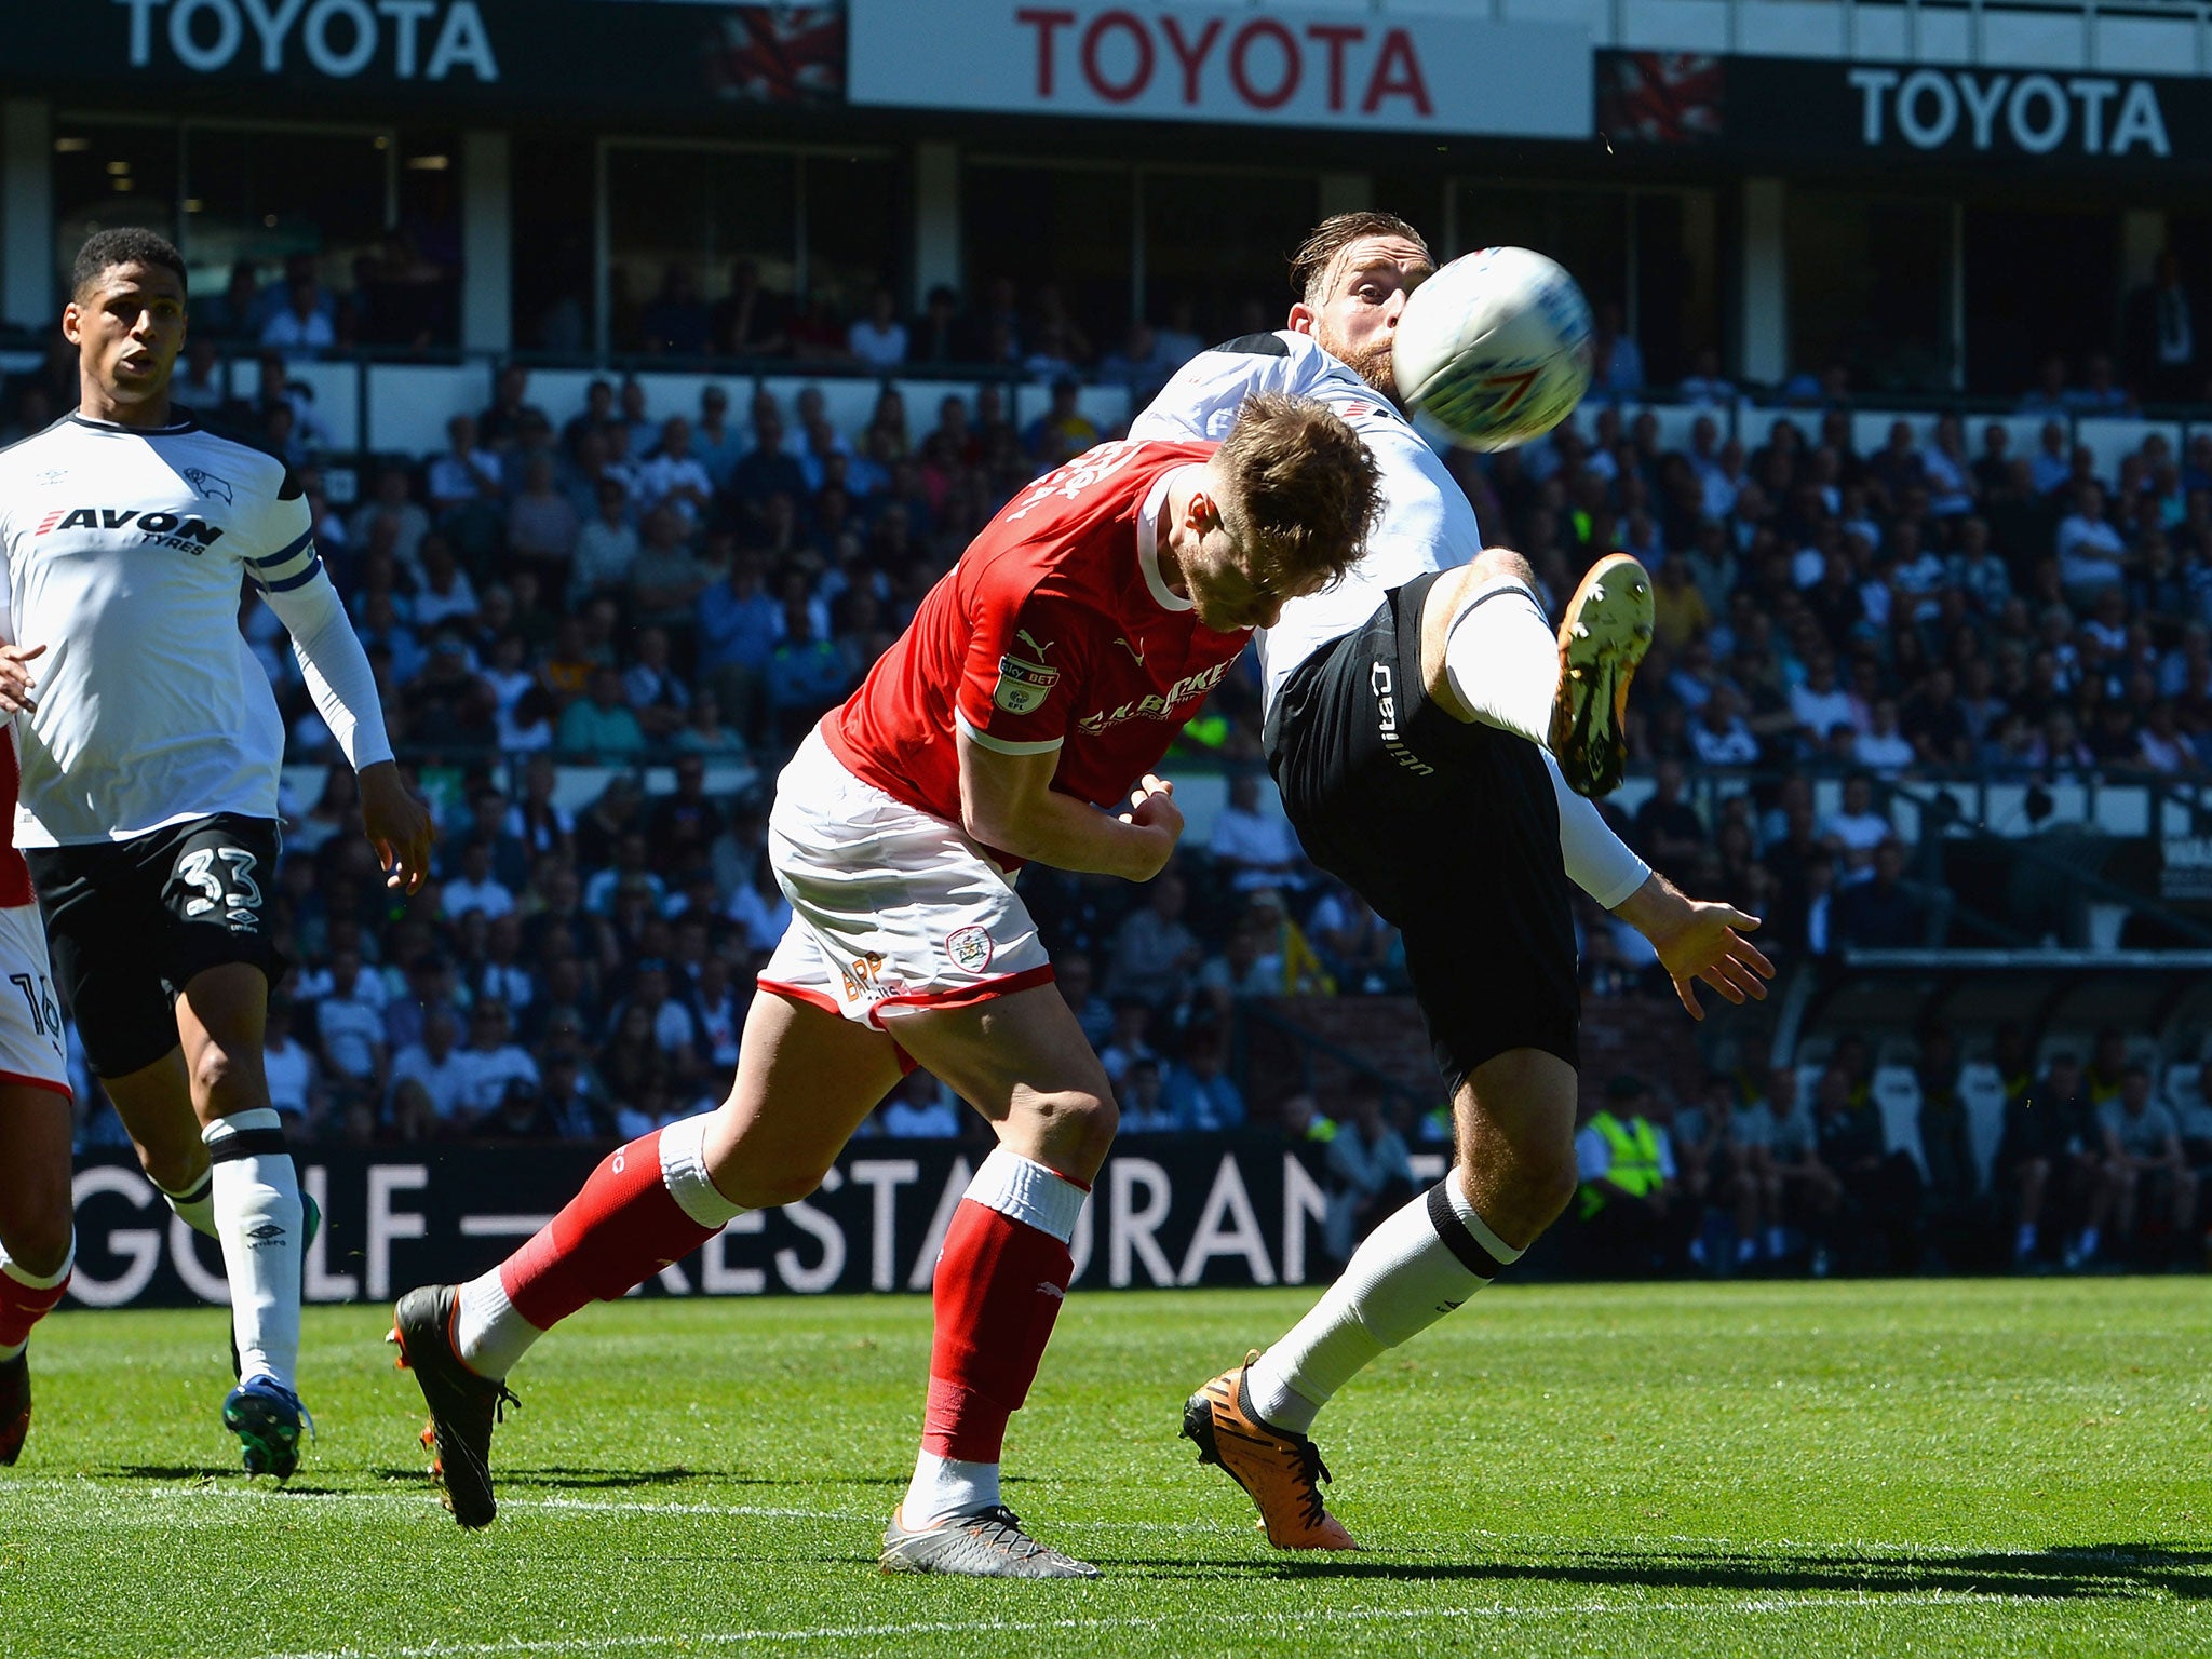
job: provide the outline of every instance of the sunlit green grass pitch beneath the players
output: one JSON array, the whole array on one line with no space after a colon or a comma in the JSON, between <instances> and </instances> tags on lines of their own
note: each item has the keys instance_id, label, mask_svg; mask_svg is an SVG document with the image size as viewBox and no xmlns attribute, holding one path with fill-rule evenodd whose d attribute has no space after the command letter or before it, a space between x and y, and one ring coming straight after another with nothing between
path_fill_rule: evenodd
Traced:
<instances>
[{"instance_id":1,"label":"sunlit green grass pitch beneath the players","mask_svg":"<svg viewBox=\"0 0 2212 1659\"><path fill-rule=\"evenodd\" d=\"M1071 1298L1006 1493L1106 1571L1077 1586L876 1573L920 1298L588 1310L513 1378L478 1535L376 1310L307 1316L288 1491L219 1433L219 1314L55 1316L0 1652L2212 1652L2199 1279L1500 1287L1323 1418L1369 1546L1329 1559L1175 1438L1310 1296Z\"/></svg>"}]
</instances>

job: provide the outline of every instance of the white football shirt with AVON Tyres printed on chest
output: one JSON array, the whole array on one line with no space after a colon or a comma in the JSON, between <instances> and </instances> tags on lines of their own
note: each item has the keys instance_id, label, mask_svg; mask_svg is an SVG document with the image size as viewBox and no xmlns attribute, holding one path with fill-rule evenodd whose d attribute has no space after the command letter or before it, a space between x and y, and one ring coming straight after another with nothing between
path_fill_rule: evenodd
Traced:
<instances>
[{"instance_id":1,"label":"white football shirt with AVON Tyres printed on chest","mask_svg":"<svg viewBox=\"0 0 2212 1659\"><path fill-rule=\"evenodd\" d=\"M321 573L281 460L190 416L64 416L0 451L0 628L46 646L18 728L18 847L276 816L283 721L239 599L248 577L288 593Z\"/></svg>"}]
</instances>

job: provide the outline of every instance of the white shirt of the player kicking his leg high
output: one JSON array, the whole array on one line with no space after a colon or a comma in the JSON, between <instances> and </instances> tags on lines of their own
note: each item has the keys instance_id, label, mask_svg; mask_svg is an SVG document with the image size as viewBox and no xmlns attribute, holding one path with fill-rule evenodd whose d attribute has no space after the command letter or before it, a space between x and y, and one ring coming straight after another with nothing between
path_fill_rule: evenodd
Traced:
<instances>
[{"instance_id":1,"label":"white shirt of the player kicking his leg high","mask_svg":"<svg viewBox=\"0 0 2212 1659\"><path fill-rule=\"evenodd\" d=\"M1175 372L1128 429L1130 438L1208 438L1237 425L1254 392L1290 392L1329 405L1374 451L1383 469L1383 518L1367 555L1327 593L1292 599L1254 637L1265 706L1290 672L1323 646L1367 624L1383 595L1425 571L1449 571L1482 551L1475 509L1460 482L1411 422L1371 385L1323 352L1310 334L1276 330L1199 352Z\"/></svg>"}]
</instances>

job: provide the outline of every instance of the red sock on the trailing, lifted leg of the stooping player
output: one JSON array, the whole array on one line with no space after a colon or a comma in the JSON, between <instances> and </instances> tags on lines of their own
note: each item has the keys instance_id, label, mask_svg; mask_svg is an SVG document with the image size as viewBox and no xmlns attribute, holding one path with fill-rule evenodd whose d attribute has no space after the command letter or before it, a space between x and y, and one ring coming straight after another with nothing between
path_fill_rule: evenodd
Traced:
<instances>
[{"instance_id":1,"label":"red sock on the trailing, lifted leg of the stooping player","mask_svg":"<svg viewBox=\"0 0 2212 1659\"><path fill-rule=\"evenodd\" d=\"M542 1332L584 1303L615 1301L714 1237L661 1181L661 1133L617 1146L538 1237L500 1263L507 1301Z\"/></svg>"}]
</instances>

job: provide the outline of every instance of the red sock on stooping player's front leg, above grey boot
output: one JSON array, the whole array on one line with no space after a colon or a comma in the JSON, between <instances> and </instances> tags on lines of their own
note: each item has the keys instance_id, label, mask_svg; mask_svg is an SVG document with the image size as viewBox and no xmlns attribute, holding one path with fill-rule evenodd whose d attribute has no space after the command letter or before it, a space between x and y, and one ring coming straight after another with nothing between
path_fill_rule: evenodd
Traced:
<instances>
[{"instance_id":1,"label":"red sock on stooping player's front leg, above grey boot","mask_svg":"<svg viewBox=\"0 0 2212 1659\"><path fill-rule=\"evenodd\" d=\"M998 1462L1006 1418L1029 1398L1073 1276L1060 1239L960 1199L938 1256L925 1451Z\"/></svg>"}]
</instances>

